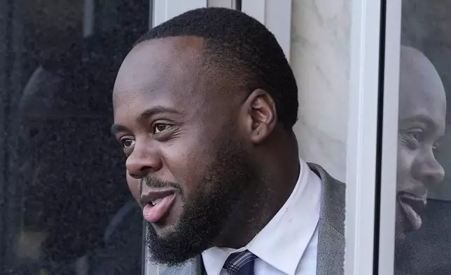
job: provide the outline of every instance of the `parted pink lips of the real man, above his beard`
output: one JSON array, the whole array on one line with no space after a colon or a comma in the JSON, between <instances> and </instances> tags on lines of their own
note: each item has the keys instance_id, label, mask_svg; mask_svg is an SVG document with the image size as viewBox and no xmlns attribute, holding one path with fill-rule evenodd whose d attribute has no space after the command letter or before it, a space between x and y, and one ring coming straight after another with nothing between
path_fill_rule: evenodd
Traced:
<instances>
[{"instance_id":1,"label":"parted pink lips of the real man, above his beard","mask_svg":"<svg viewBox=\"0 0 451 275\"><path fill-rule=\"evenodd\" d=\"M175 201L175 191L151 190L146 194L141 194L141 203L143 208L143 217L146 222L158 222L166 213L169 212Z\"/></svg>"}]
</instances>

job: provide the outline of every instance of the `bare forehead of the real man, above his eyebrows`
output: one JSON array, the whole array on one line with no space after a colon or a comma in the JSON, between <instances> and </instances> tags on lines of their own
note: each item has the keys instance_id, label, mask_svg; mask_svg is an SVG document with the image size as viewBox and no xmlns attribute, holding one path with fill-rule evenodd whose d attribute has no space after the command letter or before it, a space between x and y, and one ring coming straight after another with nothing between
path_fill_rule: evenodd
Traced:
<instances>
[{"instance_id":1,"label":"bare forehead of the real man, above his eyebrows","mask_svg":"<svg viewBox=\"0 0 451 275\"><path fill-rule=\"evenodd\" d=\"M120 67L113 91L114 105L130 97L188 92L199 75L202 45L202 39L194 36L139 43Z\"/></svg>"}]
</instances>

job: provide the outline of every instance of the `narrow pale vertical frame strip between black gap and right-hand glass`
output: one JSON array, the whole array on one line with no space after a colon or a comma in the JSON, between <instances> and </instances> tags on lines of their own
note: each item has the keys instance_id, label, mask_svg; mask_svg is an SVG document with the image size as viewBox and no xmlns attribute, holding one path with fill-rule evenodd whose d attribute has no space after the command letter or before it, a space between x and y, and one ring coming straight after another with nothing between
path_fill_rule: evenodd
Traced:
<instances>
[{"instance_id":1,"label":"narrow pale vertical frame strip between black gap and right-hand glass","mask_svg":"<svg viewBox=\"0 0 451 275\"><path fill-rule=\"evenodd\" d=\"M396 173L398 147L401 0L387 1L384 57L384 112L380 179L379 274L394 274Z\"/></svg>"}]
</instances>

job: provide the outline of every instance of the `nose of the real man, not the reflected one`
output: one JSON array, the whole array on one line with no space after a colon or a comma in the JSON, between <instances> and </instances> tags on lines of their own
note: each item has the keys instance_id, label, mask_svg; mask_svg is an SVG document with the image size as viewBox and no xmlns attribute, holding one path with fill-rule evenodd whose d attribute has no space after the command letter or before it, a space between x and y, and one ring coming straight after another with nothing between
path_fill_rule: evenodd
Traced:
<instances>
[{"instance_id":1,"label":"nose of the real man, not the reflected one","mask_svg":"<svg viewBox=\"0 0 451 275\"><path fill-rule=\"evenodd\" d=\"M140 179L149 173L160 170L162 160L158 150L151 142L136 142L133 152L125 161L125 166L130 177Z\"/></svg>"}]
</instances>

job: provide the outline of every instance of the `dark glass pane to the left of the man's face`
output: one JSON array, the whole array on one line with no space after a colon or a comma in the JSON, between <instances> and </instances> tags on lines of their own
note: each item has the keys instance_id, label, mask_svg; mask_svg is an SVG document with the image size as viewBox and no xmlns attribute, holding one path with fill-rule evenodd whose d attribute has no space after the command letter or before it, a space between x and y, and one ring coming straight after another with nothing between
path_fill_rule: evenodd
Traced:
<instances>
[{"instance_id":1,"label":"dark glass pane to the left of the man's face","mask_svg":"<svg viewBox=\"0 0 451 275\"><path fill-rule=\"evenodd\" d=\"M141 214L111 136L148 0L1 1L1 274L140 274Z\"/></svg>"}]
</instances>

